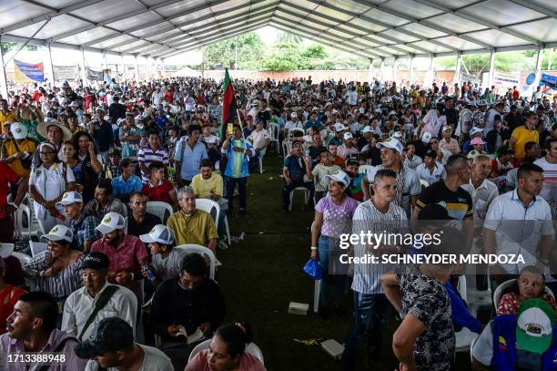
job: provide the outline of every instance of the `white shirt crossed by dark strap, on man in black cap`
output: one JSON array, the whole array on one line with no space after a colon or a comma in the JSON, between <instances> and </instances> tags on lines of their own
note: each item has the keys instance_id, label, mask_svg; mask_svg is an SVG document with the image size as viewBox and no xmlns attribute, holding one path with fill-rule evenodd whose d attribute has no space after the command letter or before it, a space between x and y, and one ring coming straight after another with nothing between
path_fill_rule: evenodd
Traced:
<instances>
[{"instance_id":1,"label":"white shirt crossed by dark strap, on man in black cap","mask_svg":"<svg viewBox=\"0 0 557 371\"><path fill-rule=\"evenodd\" d=\"M96 301L100 294L111 286L105 283L101 291L92 297L86 287L82 287L70 294L64 304L64 315L62 317L62 331L72 336L81 334L89 315L93 313ZM105 307L97 314L95 320L86 329L82 339L87 339L92 334L96 325L104 318L119 317L125 320L134 329L136 334L136 316L137 316L137 297L131 290L124 286L118 286L118 289L112 296Z\"/></svg>"}]
</instances>

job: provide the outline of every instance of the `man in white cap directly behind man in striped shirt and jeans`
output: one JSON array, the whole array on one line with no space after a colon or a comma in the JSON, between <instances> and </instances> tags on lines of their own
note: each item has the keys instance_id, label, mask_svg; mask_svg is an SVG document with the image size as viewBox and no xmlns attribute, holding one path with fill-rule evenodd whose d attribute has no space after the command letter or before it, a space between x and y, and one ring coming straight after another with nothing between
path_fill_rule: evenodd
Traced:
<instances>
[{"instance_id":1,"label":"man in white cap directly behind man in striped shirt and jeans","mask_svg":"<svg viewBox=\"0 0 557 371\"><path fill-rule=\"evenodd\" d=\"M375 167L375 172L381 169L393 170L397 174L397 190L395 191L394 203L399 205L410 218L410 210L416 204L421 191L420 177L415 170L411 170L401 160L402 143L398 139L390 138L379 142L381 165ZM368 174L361 180L361 188L364 192L364 200L370 199L370 184L374 182L375 172Z\"/></svg>"}]
</instances>

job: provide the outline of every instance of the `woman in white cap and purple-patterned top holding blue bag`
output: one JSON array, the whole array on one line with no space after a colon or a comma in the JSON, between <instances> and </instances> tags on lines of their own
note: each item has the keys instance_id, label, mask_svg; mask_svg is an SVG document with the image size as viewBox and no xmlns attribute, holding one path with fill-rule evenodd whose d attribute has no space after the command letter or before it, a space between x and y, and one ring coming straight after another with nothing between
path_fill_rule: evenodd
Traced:
<instances>
[{"instance_id":1,"label":"woman in white cap and purple-patterned top holding blue bag","mask_svg":"<svg viewBox=\"0 0 557 371\"><path fill-rule=\"evenodd\" d=\"M319 258L319 265L323 268L321 291L319 293L319 315L329 316L329 291L334 289L335 312L344 317L345 311L341 306L342 293L346 276L344 274L329 274L333 267L334 256L339 252L340 234L351 232L352 216L358 201L349 198L344 192L350 184L346 172L339 170L336 174L326 175L329 180L329 194L319 200L315 207L315 219L311 232L311 259Z\"/></svg>"}]
</instances>

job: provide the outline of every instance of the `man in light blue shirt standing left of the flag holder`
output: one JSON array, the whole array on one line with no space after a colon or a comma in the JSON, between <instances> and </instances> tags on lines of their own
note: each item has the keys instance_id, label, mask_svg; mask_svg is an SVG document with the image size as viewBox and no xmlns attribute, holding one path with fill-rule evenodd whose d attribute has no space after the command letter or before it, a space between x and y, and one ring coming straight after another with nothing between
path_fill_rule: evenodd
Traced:
<instances>
[{"instance_id":1,"label":"man in light blue shirt standing left of the flag holder","mask_svg":"<svg viewBox=\"0 0 557 371\"><path fill-rule=\"evenodd\" d=\"M174 163L177 174L177 186L179 188L189 185L193 177L199 172L199 163L203 159L208 159L207 148L201 141L201 127L190 125L187 128L189 138L180 140L176 146Z\"/></svg>"}]
</instances>

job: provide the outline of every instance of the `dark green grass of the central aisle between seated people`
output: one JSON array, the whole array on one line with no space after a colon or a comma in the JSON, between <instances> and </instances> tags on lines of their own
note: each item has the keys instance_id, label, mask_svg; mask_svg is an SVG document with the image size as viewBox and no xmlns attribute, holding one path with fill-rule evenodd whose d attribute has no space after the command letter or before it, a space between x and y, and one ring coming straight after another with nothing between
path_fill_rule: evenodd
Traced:
<instances>
[{"instance_id":1,"label":"dark green grass of the central aisle between seated people","mask_svg":"<svg viewBox=\"0 0 557 371\"><path fill-rule=\"evenodd\" d=\"M301 210L301 191L295 192L292 211L282 211L282 160L275 152L265 158L265 172L248 179L248 215L228 217L231 234L245 232L246 236L228 250L218 250L223 266L218 269L217 280L227 304L226 322L252 324L254 342L262 349L270 371L338 370L339 361L319 345L307 346L292 340L333 338L342 343L349 334L350 320L334 315L322 320L312 311L308 316L288 314L290 301L313 307L313 281L302 272L309 259L313 213ZM351 292L346 295L346 307L351 317ZM386 366L374 363L364 368L362 356L361 369L392 370L398 365L390 350L395 328L390 324L383 334L374 334L383 336L381 362ZM465 364L467 358L462 359ZM469 368L466 365L461 369Z\"/></svg>"}]
</instances>

